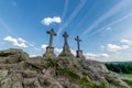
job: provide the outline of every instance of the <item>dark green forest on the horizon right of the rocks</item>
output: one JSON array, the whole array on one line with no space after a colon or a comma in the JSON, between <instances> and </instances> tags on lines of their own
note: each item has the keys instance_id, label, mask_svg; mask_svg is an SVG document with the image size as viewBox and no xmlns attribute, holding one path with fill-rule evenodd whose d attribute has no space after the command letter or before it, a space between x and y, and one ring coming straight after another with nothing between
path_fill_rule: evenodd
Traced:
<instances>
[{"instance_id":1,"label":"dark green forest on the horizon right of the rocks","mask_svg":"<svg viewBox=\"0 0 132 88\"><path fill-rule=\"evenodd\" d=\"M132 74L132 63L109 63L106 64L109 70L123 74Z\"/></svg>"}]
</instances>

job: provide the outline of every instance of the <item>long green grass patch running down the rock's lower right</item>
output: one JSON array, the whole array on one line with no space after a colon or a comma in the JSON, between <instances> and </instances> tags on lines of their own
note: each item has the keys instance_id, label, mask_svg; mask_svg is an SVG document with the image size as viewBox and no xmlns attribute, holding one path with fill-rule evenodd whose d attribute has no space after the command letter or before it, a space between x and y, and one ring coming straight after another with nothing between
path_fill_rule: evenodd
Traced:
<instances>
[{"instance_id":1,"label":"long green grass patch running down the rock's lower right","mask_svg":"<svg viewBox=\"0 0 132 88\"><path fill-rule=\"evenodd\" d=\"M56 72L57 75L66 76L70 79L70 81L74 81L76 84L79 84L81 88L107 88L106 84L102 82L100 85L96 85L92 81L90 81L88 75L84 75L82 78L79 78L76 73L72 69L59 69ZM67 87L66 87L67 88Z\"/></svg>"}]
</instances>

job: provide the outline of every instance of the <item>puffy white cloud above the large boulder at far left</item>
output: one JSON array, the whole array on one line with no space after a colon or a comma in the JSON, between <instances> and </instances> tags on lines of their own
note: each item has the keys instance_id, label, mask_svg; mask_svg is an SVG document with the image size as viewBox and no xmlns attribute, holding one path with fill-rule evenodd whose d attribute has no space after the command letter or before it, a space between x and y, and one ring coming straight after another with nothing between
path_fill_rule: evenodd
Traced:
<instances>
[{"instance_id":1,"label":"puffy white cloud above the large boulder at far left","mask_svg":"<svg viewBox=\"0 0 132 88\"><path fill-rule=\"evenodd\" d=\"M12 36L7 36L3 38L4 41L8 41L8 42L11 42L13 43L14 46L19 46L19 47L29 47L26 44L25 44L25 40L19 37L19 38L14 38Z\"/></svg>"}]
</instances>

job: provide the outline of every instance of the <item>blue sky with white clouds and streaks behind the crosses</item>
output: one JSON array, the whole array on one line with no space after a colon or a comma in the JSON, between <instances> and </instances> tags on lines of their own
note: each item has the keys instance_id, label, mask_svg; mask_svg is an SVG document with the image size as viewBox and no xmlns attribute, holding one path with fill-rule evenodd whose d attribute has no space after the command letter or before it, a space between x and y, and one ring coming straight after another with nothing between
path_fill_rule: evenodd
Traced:
<instances>
[{"instance_id":1,"label":"blue sky with white clouds and streaks behind the crosses","mask_svg":"<svg viewBox=\"0 0 132 88\"><path fill-rule=\"evenodd\" d=\"M42 56L54 29L55 53L69 34L72 53L80 36L84 55L100 62L132 61L132 0L0 0L0 50Z\"/></svg>"}]
</instances>

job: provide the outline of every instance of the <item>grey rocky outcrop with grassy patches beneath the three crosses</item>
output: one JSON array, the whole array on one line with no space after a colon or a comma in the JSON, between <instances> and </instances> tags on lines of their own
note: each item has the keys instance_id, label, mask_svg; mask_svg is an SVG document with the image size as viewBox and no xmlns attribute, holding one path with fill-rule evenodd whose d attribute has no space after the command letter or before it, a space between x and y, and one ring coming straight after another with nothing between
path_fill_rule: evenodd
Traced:
<instances>
[{"instance_id":1,"label":"grey rocky outcrop with grassy patches beneath the three crosses","mask_svg":"<svg viewBox=\"0 0 132 88\"><path fill-rule=\"evenodd\" d=\"M131 87L96 61L29 57L21 50L7 50L0 52L0 88Z\"/></svg>"}]
</instances>

